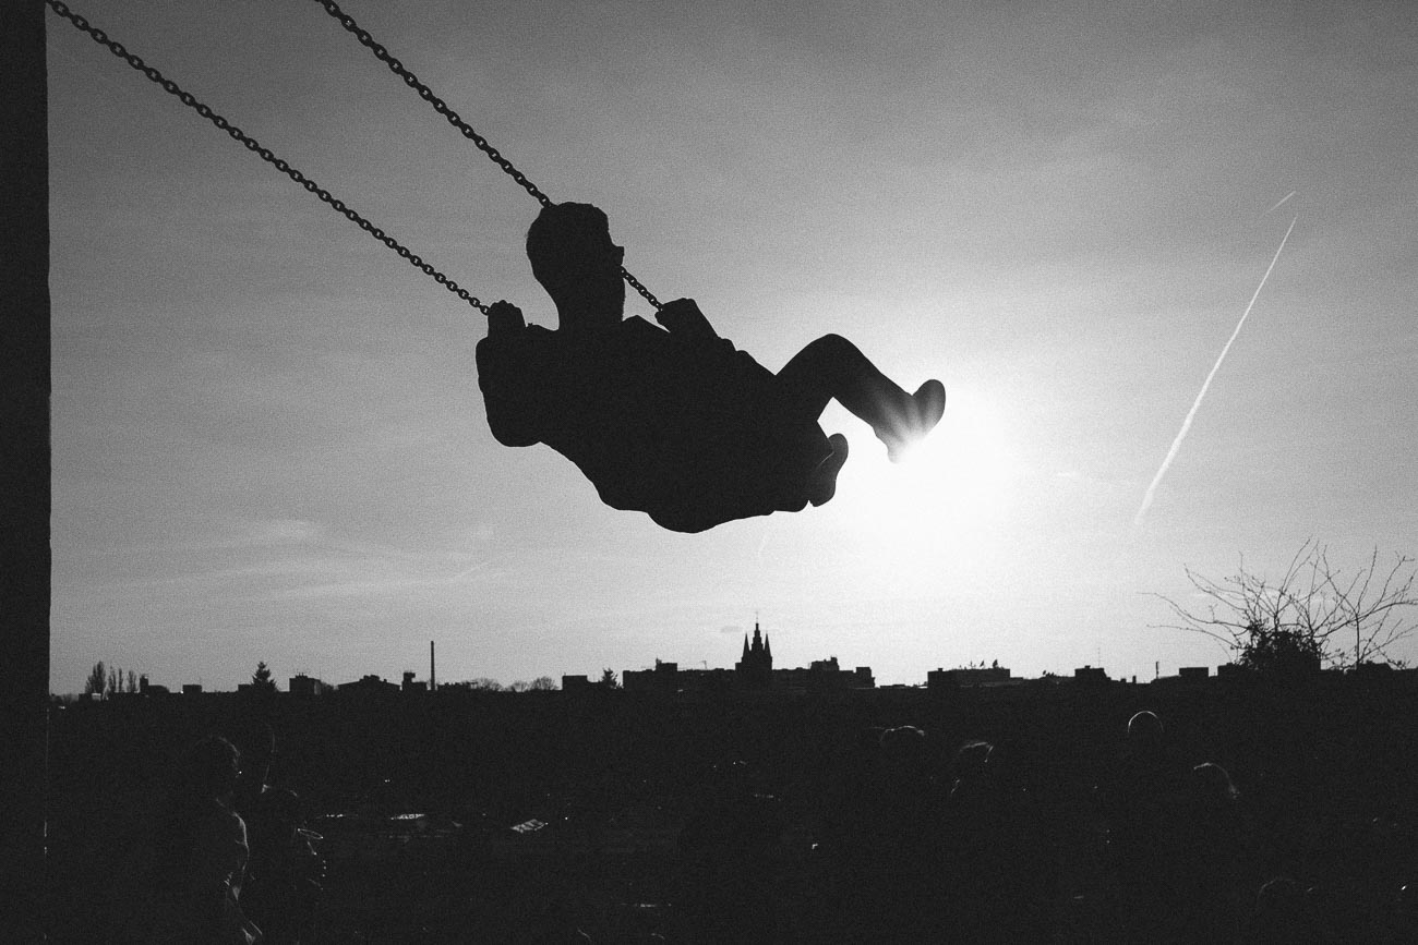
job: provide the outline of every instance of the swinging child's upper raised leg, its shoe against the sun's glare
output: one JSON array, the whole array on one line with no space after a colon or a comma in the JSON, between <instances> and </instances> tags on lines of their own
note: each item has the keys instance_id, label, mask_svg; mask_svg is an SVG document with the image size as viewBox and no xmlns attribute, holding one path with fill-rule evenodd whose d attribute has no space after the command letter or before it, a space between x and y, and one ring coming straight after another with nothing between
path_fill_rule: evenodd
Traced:
<instances>
[{"instance_id":1,"label":"swinging child's upper raised leg, its shoe against the sun's glare","mask_svg":"<svg viewBox=\"0 0 1418 945\"><path fill-rule=\"evenodd\" d=\"M929 432L944 411L939 381L926 381L915 395L908 394L839 334L825 334L804 347L777 377L814 417L835 398L871 424L893 459L908 441Z\"/></svg>"}]
</instances>

